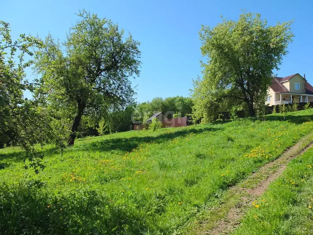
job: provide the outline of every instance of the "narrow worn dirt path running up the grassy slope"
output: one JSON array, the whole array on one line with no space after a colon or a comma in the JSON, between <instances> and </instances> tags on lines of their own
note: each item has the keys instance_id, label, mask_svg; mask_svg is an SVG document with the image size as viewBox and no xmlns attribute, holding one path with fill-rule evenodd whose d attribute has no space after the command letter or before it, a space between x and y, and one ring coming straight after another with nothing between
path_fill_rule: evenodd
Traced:
<instances>
[{"instance_id":1,"label":"narrow worn dirt path running up the grassy slope","mask_svg":"<svg viewBox=\"0 0 313 235\"><path fill-rule=\"evenodd\" d=\"M242 184L232 187L229 190L229 194L233 195L232 198L236 198L236 196L238 197L236 204L230 206L230 209L228 208L228 212L223 219L220 219L217 222L204 221L201 223L197 234L217 235L229 234L229 232L233 231L240 224L240 219L252 206L252 202L261 196L270 183L276 180L283 173L286 168L286 164L291 159L299 156L312 146L313 133L301 139L297 144L289 149L286 149L279 158L262 166L258 172L250 175L249 178ZM214 210L217 213L223 214L223 205L221 205L220 208L215 208Z\"/></svg>"}]
</instances>

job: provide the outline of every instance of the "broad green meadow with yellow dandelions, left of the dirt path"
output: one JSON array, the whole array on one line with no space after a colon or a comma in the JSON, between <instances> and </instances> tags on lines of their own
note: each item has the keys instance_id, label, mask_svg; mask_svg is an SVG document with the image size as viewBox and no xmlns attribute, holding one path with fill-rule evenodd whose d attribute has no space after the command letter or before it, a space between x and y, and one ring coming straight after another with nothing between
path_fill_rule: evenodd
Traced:
<instances>
[{"instance_id":1,"label":"broad green meadow with yellow dandelions, left of the dirt path","mask_svg":"<svg viewBox=\"0 0 313 235\"><path fill-rule=\"evenodd\" d=\"M44 148L43 172L0 149L0 231L172 234L313 128L313 110L214 125L129 131ZM51 146L50 146L51 147ZM3 182L3 183L1 183ZM1 233L1 232L0 232Z\"/></svg>"}]
</instances>

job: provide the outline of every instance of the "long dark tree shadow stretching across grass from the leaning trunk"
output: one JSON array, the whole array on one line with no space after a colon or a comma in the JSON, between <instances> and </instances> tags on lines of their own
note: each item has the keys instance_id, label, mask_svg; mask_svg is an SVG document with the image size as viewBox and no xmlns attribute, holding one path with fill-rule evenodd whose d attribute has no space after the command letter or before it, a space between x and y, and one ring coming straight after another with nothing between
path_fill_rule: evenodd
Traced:
<instances>
[{"instance_id":1,"label":"long dark tree shadow stretching across grass from the leaning trunk","mask_svg":"<svg viewBox=\"0 0 313 235\"><path fill-rule=\"evenodd\" d=\"M200 129L196 128L188 128L179 130L172 133L163 133L158 136L144 136L144 137L130 137L130 138L112 138L112 139L105 139L101 141L95 141L91 143L81 144L72 147L71 149L68 149L67 151L100 151L100 152L106 152L110 150L122 150L126 152L130 152L132 149L137 148L140 144L144 143L155 143L155 144L161 144L165 141L176 138L178 136L186 136L190 133L203 133L203 132L214 132L218 130L222 130L223 128L216 128L216 127L204 127Z\"/></svg>"}]
</instances>

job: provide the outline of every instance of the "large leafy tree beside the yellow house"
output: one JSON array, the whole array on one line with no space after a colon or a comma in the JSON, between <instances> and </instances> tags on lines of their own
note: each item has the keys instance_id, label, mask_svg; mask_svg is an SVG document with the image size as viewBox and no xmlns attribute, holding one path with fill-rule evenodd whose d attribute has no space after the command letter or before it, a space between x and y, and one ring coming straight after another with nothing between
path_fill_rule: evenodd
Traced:
<instances>
[{"instance_id":1,"label":"large leafy tree beside the yellow house","mask_svg":"<svg viewBox=\"0 0 313 235\"><path fill-rule=\"evenodd\" d=\"M254 116L256 105L265 103L273 69L279 69L288 53L291 23L268 26L260 14L244 12L238 21L223 18L214 28L202 26L201 52L208 61L202 62L203 78L194 82L194 118L210 115L204 100L214 100L214 107L217 101L221 108L245 103Z\"/></svg>"}]
</instances>

